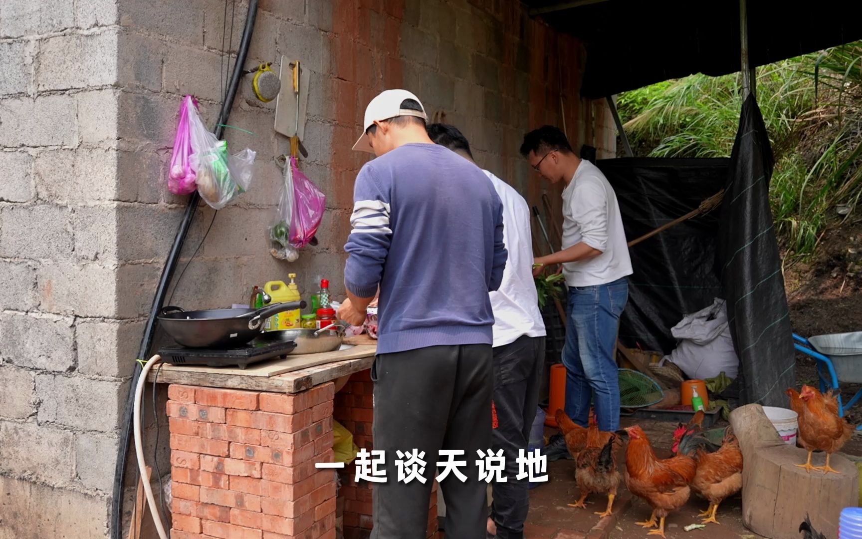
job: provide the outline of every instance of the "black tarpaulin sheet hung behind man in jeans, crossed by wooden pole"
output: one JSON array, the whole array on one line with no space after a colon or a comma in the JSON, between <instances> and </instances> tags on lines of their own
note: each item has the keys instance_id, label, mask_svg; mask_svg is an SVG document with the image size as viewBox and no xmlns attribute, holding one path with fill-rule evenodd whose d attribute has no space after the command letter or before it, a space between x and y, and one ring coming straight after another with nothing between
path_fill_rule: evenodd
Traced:
<instances>
[{"instance_id":1,"label":"black tarpaulin sheet hung behind man in jeans, crossed by wooden pole","mask_svg":"<svg viewBox=\"0 0 862 539\"><path fill-rule=\"evenodd\" d=\"M696 209L721 191L728 159L614 159L597 166L614 187L628 241ZM715 274L720 211L696 216L629 249L634 273L620 323L628 348L668 354L671 328L687 313L723 298Z\"/></svg>"}]
</instances>

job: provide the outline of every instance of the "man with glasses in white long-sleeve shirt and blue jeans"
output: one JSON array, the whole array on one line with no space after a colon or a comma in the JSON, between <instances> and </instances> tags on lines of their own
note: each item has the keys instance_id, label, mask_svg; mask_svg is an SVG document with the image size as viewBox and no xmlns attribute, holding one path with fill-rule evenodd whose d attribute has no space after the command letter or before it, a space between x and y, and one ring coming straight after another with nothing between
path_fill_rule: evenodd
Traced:
<instances>
[{"instance_id":1,"label":"man with glasses in white long-sleeve shirt and blue jeans","mask_svg":"<svg viewBox=\"0 0 862 539\"><path fill-rule=\"evenodd\" d=\"M608 179L572 151L565 134L544 126L524 135L521 154L551 183L563 182L562 250L535 260L534 273L561 264L569 288L563 364L565 413L588 426L594 399L598 428L620 428L616 334L628 301L632 263L620 207ZM549 460L571 458L561 436L546 448Z\"/></svg>"}]
</instances>

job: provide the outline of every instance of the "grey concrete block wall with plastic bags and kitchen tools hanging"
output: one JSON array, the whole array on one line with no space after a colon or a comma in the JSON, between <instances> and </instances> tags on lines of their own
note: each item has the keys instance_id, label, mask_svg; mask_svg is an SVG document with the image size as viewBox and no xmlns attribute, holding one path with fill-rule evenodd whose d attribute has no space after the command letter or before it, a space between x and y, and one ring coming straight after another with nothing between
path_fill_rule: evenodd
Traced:
<instances>
[{"instance_id":1,"label":"grey concrete block wall with plastic bags and kitchen tools hanging","mask_svg":"<svg viewBox=\"0 0 862 539\"><path fill-rule=\"evenodd\" d=\"M245 22L247 3L234 16L232 5L225 18L224 0L0 2L0 536L107 534L128 377L186 200L166 189L178 107L196 95L214 126L222 50ZM253 135L225 133L232 151L258 153L252 189L217 214L197 210L180 271L201 247L172 304L244 303L252 285L293 272L303 291L328 278L340 295L353 179L369 159L350 147L385 88L415 91L462 128L479 164L531 204L548 188L517 154L528 128L565 120L575 147L613 152L603 101L578 97L583 47L517 2L263 0L246 67L277 68L282 54L311 75L300 166L328 197L320 245L295 263L269 254L273 158L289 142L249 76L228 123ZM163 469L166 445L154 448ZM64 503L36 519L43 499Z\"/></svg>"}]
</instances>

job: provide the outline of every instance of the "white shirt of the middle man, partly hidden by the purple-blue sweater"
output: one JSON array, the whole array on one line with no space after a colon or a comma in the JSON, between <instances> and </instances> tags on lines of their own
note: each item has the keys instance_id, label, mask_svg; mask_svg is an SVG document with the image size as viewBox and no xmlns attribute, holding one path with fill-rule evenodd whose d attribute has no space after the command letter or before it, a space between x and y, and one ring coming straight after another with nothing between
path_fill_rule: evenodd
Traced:
<instances>
[{"instance_id":1,"label":"white shirt of the middle man, partly hidden by the purple-blue sweater","mask_svg":"<svg viewBox=\"0 0 862 539\"><path fill-rule=\"evenodd\" d=\"M539 294L533 280L533 239L527 201L511 185L483 170L503 202L503 244L509 253L503 281L490 292L494 310L494 347L515 342L523 335L545 336Z\"/></svg>"}]
</instances>

